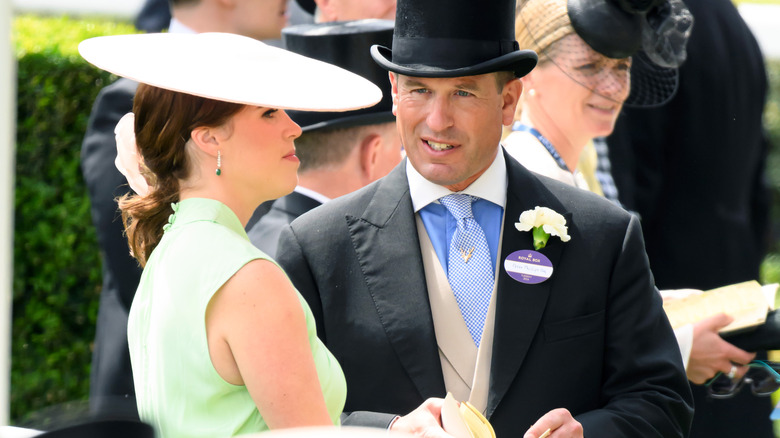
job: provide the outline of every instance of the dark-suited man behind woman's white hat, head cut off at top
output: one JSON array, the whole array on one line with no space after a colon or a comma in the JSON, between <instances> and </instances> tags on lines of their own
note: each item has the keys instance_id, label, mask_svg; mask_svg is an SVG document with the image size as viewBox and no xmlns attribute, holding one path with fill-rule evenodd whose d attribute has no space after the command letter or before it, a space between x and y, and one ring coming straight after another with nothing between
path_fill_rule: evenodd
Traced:
<instances>
[{"instance_id":1,"label":"dark-suited man behind woman's white hat, head cut off at top","mask_svg":"<svg viewBox=\"0 0 780 438\"><path fill-rule=\"evenodd\" d=\"M267 9L252 10L254 3L255 0L231 4L218 0L170 0L173 19L169 32L231 32L254 38L278 38L286 22L284 5L269 1L263 2L268 3L264 5ZM122 116L132 111L137 86L129 79L119 79L100 91L81 147L81 169L89 189L92 222L103 264L90 376L90 409L96 414L131 417L137 413L127 347L127 314L141 278L141 268L130 255L116 203L116 198L130 188L114 166L114 128Z\"/></svg>"}]
</instances>

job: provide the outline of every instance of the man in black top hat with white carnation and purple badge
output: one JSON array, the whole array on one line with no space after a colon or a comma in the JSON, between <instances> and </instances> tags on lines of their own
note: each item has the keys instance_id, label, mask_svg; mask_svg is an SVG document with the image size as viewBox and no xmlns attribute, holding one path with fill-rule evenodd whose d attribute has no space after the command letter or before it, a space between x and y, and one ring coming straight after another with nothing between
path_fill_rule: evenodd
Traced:
<instances>
[{"instance_id":1,"label":"man in black top hat with white carnation and purple badge","mask_svg":"<svg viewBox=\"0 0 780 438\"><path fill-rule=\"evenodd\" d=\"M513 11L399 1L392 49L371 53L407 160L293 221L278 261L342 365L347 411L451 392L499 437L684 436L690 389L637 219L499 145L536 64Z\"/></svg>"}]
</instances>

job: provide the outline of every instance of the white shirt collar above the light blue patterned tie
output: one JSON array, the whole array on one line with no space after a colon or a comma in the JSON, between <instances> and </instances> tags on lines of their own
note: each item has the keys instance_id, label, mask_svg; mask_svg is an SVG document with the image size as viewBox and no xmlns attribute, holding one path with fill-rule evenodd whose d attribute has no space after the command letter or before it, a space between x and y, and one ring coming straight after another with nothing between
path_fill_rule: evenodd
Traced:
<instances>
[{"instance_id":1,"label":"white shirt collar above the light blue patterned tie","mask_svg":"<svg viewBox=\"0 0 780 438\"><path fill-rule=\"evenodd\" d=\"M406 160L406 179L409 182L409 193L412 196L412 206L415 213L426 205L437 202L442 196L456 193L425 179L412 166L409 159ZM503 151L499 148L496 158L485 173L480 175L471 185L457 193L476 196L504 208L506 205L506 185L506 160L504 159Z\"/></svg>"}]
</instances>

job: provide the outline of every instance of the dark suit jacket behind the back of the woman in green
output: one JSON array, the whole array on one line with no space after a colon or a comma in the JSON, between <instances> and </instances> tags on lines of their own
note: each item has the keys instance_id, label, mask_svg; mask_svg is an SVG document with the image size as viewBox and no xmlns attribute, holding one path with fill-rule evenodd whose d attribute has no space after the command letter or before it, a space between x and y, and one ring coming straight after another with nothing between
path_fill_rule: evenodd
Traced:
<instances>
[{"instance_id":1,"label":"dark suit jacket behind the back of the woman in green","mask_svg":"<svg viewBox=\"0 0 780 438\"><path fill-rule=\"evenodd\" d=\"M92 222L103 262L103 288L90 377L90 405L98 413L135 411L127 314L141 278L141 268L130 256L115 201L130 188L114 166L114 128L132 110L137 86L136 82L119 79L100 91L81 147L81 169L89 189Z\"/></svg>"}]
</instances>

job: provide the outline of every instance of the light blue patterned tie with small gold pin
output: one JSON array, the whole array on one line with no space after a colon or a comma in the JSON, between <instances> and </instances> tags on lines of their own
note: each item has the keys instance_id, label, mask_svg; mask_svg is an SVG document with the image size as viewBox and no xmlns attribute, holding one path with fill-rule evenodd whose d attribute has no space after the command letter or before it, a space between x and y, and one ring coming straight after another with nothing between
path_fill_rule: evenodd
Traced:
<instances>
[{"instance_id":1,"label":"light blue patterned tie with small gold pin","mask_svg":"<svg viewBox=\"0 0 780 438\"><path fill-rule=\"evenodd\" d=\"M469 195L447 195L439 202L458 223L450 241L447 279L471 338L479 347L494 279L485 232L471 212L471 203L476 199Z\"/></svg>"}]
</instances>

